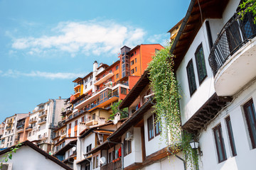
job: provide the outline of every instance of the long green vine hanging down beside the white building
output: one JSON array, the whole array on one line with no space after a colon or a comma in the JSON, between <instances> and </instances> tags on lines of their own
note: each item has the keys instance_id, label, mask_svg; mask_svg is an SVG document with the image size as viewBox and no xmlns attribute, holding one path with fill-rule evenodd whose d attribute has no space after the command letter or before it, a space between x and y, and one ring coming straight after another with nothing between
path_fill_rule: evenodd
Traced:
<instances>
[{"instance_id":1,"label":"long green vine hanging down beside the white building","mask_svg":"<svg viewBox=\"0 0 256 170\"><path fill-rule=\"evenodd\" d=\"M182 150L187 165L197 166L198 156L189 145L192 136L181 130L181 113L178 105L181 95L173 71L174 55L170 54L170 49L171 44L156 52L148 67L151 89L156 101L156 121L161 124L161 136L169 142L170 152L175 155ZM167 135L167 132L170 135Z\"/></svg>"}]
</instances>

